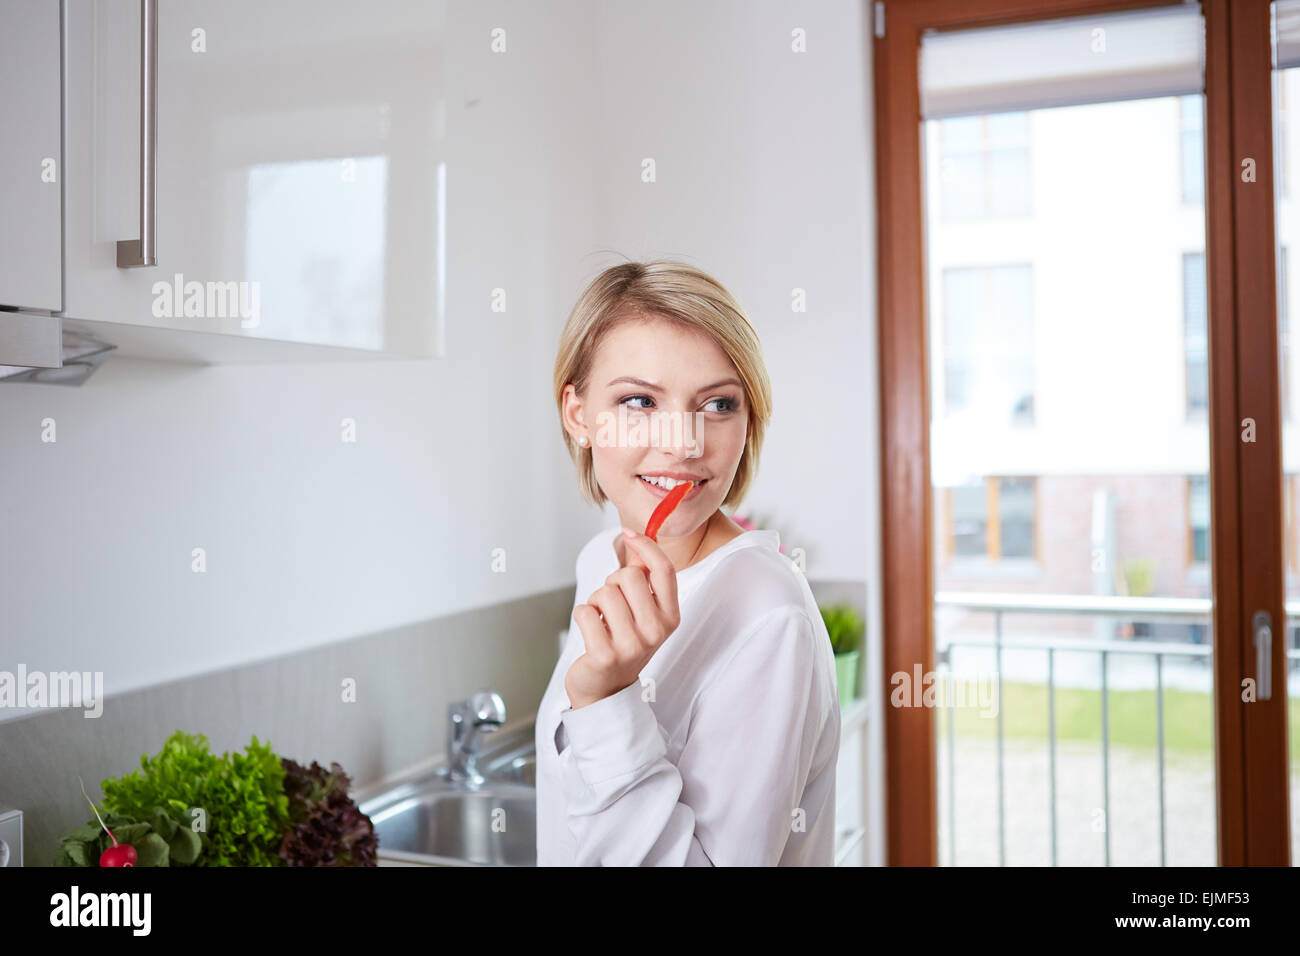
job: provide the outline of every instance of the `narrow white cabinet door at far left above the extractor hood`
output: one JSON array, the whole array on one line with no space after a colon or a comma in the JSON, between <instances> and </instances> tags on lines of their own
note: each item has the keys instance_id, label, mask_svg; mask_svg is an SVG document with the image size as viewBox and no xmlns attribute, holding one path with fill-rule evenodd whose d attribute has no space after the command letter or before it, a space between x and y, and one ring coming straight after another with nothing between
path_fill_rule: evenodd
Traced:
<instances>
[{"instance_id":1,"label":"narrow white cabinet door at far left above the extractor hood","mask_svg":"<svg viewBox=\"0 0 1300 956\"><path fill-rule=\"evenodd\" d=\"M58 49L57 3L0 4L0 306L8 308L62 308Z\"/></svg>"}]
</instances>

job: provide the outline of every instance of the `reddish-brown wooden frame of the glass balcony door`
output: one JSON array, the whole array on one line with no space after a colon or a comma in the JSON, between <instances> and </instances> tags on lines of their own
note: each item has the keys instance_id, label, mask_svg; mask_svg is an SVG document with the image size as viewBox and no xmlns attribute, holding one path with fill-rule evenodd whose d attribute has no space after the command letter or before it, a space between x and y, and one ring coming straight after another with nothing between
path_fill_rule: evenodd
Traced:
<instances>
[{"instance_id":1,"label":"reddish-brown wooden frame of the glass balcony door","mask_svg":"<svg viewBox=\"0 0 1300 956\"><path fill-rule=\"evenodd\" d=\"M920 163L920 34L1182 5L1182 0L880 0L872 49L880 362L883 667L935 670L930 355ZM1247 706L1249 618L1283 610L1282 446L1273 226L1269 0L1201 0L1205 17L1205 242L1210 354L1217 855L1223 866L1286 865L1286 641L1273 696ZM1256 181L1243 182L1243 157ZM1269 341L1271 336L1271 343ZM1243 445L1242 420L1257 438ZM1248 454L1243 451L1248 449ZM885 860L937 865L937 763L930 708L884 708ZM1249 810L1251 826L1245 826Z\"/></svg>"}]
</instances>

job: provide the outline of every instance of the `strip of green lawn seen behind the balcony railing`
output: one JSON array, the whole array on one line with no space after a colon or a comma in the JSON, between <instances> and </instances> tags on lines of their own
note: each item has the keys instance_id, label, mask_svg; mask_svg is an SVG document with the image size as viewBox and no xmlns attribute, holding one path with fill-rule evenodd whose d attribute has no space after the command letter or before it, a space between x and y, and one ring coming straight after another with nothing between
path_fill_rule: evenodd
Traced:
<instances>
[{"instance_id":1,"label":"strip of green lawn seen behind the balcony railing","mask_svg":"<svg viewBox=\"0 0 1300 956\"><path fill-rule=\"evenodd\" d=\"M958 684L966 684L958 691ZM953 682L954 697L967 693L966 706L956 709L958 736L997 735L997 718L982 714L974 682ZM1210 696L1196 691L1165 689L1165 749L1210 753L1214 748ZM1109 691L1110 743L1156 747L1156 691ZM1300 760L1300 701L1288 701L1291 760ZM936 714L939 732L948 732L948 714ZM1046 741L1048 688L1044 684L1002 683L1002 732L1009 737ZM1056 691L1057 740L1101 743L1101 691L1058 687Z\"/></svg>"}]
</instances>

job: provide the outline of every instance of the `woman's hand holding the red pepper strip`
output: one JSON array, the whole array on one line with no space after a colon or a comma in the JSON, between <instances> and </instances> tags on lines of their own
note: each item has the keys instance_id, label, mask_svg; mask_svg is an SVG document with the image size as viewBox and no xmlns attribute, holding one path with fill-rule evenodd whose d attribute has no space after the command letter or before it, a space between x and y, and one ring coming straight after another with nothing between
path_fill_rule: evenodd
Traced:
<instances>
[{"instance_id":1,"label":"woman's hand holding the red pepper strip","mask_svg":"<svg viewBox=\"0 0 1300 956\"><path fill-rule=\"evenodd\" d=\"M573 609L586 645L564 675L575 710L630 687L681 623L677 571L668 555L645 535L624 535L623 541L627 563Z\"/></svg>"}]
</instances>

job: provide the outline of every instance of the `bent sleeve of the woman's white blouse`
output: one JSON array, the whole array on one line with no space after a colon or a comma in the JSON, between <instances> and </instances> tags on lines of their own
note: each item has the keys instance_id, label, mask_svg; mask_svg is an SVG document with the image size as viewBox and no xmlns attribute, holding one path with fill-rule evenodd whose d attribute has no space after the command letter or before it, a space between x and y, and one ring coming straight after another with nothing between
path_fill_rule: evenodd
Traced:
<instances>
[{"instance_id":1,"label":"bent sleeve of the woman's white blouse","mask_svg":"<svg viewBox=\"0 0 1300 956\"><path fill-rule=\"evenodd\" d=\"M757 622L697 696L676 765L640 682L564 710L575 864L775 866L802 831L826 719L814 713L816 639L798 606Z\"/></svg>"}]
</instances>

